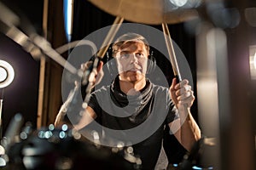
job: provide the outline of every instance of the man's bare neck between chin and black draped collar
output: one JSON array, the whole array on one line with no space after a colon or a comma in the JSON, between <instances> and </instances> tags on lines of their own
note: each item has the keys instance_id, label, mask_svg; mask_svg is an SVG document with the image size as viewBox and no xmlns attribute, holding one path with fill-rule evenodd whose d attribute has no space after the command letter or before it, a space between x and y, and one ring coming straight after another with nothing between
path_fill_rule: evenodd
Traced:
<instances>
[{"instance_id":1,"label":"man's bare neck between chin and black draped collar","mask_svg":"<svg viewBox=\"0 0 256 170\"><path fill-rule=\"evenodd\" d=\"M129 82L119 77L119 85L122 92L125 94L134 95L146 86L146 78L144 77L136 82Z\"/></svg>"}]
</instances>

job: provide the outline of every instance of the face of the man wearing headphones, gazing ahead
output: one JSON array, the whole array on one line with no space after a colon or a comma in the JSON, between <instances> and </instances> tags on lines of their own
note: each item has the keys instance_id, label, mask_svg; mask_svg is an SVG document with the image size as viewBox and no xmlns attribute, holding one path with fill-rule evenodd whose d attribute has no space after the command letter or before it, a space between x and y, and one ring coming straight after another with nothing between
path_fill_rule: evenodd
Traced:
<instances>
[{"instance_id":1,"label":"face of the man wearing headphones, gazing ahead","mask_svg":"<svg viewBox=\"0 0 256 170\"><path fill-rule=\"evenodd\" d=\"M119 75L145 77L148 51L143 42L126 42L116 54Z\"/></svg>"}]
</instances>

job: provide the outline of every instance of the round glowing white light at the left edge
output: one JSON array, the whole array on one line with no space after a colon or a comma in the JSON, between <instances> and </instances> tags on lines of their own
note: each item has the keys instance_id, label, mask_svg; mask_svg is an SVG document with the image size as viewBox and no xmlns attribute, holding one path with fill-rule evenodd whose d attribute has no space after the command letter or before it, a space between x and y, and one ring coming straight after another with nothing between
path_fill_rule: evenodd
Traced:
<instances>
[{"instance_id":1,"label":"round glowing white light at the left edge","mask_svg":"<svg viewBox=\"0 0 256 170\"><path fill-rule=\"evenodd\" d=\"M15 71L12 65L0 59L0 88L5 88L13 82Z\"/></svg>"}]
</instances>

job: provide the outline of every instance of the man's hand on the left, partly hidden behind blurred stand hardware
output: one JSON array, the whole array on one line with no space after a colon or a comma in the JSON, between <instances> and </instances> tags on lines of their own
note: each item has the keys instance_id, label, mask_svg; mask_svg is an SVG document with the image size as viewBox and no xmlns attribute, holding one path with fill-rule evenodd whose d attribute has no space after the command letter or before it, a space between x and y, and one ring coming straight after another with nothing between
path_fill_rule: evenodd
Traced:
<instances>
[{"instance_id":1,"label":"man's hand on the left, partly hidden behind blurred stand hardware","mask_svg":"<svg viewBox=\"0 0 256 170\"><path fill-rule=\"evenodd\" d=\"M86 71L90 67L90 65L92 65L92 61L87 61L86 63L81 65L81 70ZM102 77L104 76L102 67L103 67L103 62L100 61L98 67L96 69L93 69L90 73L89 82L93 84L93 87L102 81Z\"/></svg>"}]
</instances>

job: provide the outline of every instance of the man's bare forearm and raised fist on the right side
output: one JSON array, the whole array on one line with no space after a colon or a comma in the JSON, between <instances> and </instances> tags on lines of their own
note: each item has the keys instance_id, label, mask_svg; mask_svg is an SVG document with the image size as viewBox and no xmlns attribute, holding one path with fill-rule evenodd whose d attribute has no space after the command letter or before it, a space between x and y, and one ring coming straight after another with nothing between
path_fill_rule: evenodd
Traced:
<instances>
[{"instance_id":1,"label":"man's bare forearm and raised fist on the right side","mask_svg":"<svg viewBox=\"0 0 256 170\"><path fill-rule=\"evenodd\" d=\"M195 96L187 80L177 83L175 78L172 80L170 94L177 107L179 118L169 123L169 127L180 144L186 150L191 150L195 141L201 139L201 130L190 113Z\"/></svg>"}]
</instances>

